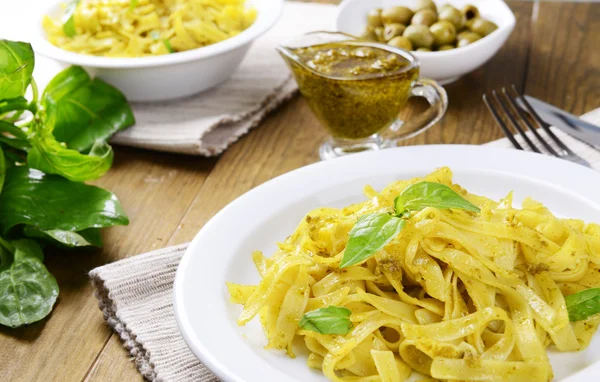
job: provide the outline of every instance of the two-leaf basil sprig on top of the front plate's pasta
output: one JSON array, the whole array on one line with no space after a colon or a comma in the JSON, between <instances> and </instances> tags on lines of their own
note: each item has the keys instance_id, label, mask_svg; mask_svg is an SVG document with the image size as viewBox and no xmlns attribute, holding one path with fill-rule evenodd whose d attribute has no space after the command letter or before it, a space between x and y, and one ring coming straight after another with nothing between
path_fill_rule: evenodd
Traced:
<instances>
[{"instance_id":1,"label":"two-leaf basil sprig on top of the front plate's pasta","mask_svg":"<svg viewBox=\"0 0 600 382\"><path fill-rule=\"evenodd\" d=\"M350 233L340 268L359 264L394 239L406 222L407 214L426 207L463 209L479 208L450 187L434 182L420 182L406 187L394 200L395 214L376 213L361 216Z\"/></svg>"}]
</instances>

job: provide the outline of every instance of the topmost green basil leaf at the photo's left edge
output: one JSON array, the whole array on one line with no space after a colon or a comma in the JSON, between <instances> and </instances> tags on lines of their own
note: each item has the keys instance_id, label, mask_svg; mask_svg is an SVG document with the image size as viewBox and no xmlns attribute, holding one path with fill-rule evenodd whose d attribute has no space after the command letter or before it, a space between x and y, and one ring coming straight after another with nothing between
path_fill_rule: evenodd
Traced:
<instances>
[{"instance_id":1,"label":"topmost green basil leaf at the photo's left edge","mask_svg":"<svg viewBox=\"0 0 600 382\"><path fill-rule=\"evenodd\" d=\"M31 82L33 65L30 44L0 39L0 100L25 94Z\"/></svg>"}]
</instances>

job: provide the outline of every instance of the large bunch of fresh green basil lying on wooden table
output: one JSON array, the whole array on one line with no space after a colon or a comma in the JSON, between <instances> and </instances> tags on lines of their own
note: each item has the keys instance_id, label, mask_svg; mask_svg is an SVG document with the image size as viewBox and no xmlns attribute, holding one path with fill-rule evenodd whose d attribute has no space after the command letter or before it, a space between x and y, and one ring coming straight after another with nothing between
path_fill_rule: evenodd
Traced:
<instances>
[{"instance_id":1,"label":"large bunch of fresh green basil lying on wooden table","mask_svg":"<svg viewBox=\"0 0 600 382\"><path fill-rule=\"evenodd\" d=\"M11 327L41 320L58 296L38 242L101 247L101 228L129 223L115 195L83 183L110 168L108 139L134 123L127 100L78 67L40 100L34 64L31 45L0 39L0 325Z\"/></svg>"}]
</instances>

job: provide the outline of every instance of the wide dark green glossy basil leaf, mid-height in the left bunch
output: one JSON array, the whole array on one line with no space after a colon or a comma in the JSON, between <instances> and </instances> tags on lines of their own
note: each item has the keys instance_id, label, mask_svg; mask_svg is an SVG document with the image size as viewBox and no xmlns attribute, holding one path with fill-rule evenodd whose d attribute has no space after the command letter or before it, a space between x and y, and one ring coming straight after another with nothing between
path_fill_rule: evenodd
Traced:
<instances>
[{"instance_id":1,"label":"wide dark green glossy basil leaf, mid-height in the left bunch","mask_svg":"<svg viewBox=\"0 0 600 382\"><path fill-rule=\"evenodd\" d=\"M116 196L99 187L70 182L27 167L6 172L0 194L0 230L25 224L42 231L82 231L127 225Z\"/></svg>"}]
</instances>

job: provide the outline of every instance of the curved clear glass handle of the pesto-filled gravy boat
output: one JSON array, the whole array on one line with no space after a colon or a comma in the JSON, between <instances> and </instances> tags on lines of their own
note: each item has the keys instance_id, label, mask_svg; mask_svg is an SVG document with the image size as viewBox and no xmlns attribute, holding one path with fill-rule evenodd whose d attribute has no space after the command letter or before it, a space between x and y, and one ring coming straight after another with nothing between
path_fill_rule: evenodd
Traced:
<instances>
[{"instance_id":1,"label":"curved clear glass handle of the pesto-filled gravy boat","mask_svg":"<svg viewBox=\"0 0 600 382\"><path fill-rule=\"evenodd\" d=\"M410 121L398 120L395 127L386 133L384 138L392 142L399 142L421 134L431 126L438 123L448 109L448 94L446 90L434 80L420 78L415 81L410 98L423 97L429 102L429 108L419 118Z\"/></svg>"}]
</instances>

